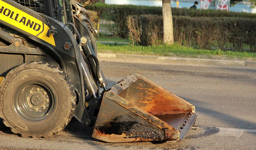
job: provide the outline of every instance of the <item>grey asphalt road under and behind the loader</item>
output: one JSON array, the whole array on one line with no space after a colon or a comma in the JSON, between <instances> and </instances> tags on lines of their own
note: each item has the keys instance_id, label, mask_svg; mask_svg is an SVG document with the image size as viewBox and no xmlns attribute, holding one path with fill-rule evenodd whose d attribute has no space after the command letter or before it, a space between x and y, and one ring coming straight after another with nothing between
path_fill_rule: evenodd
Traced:
<instances>
[{"instance_id":1,"label":"grey asphalt road under and behind the loader","mask_svg":"<svg viewBox=\"0 0 256 150\"><path fill-rule=\"evenodd\" d=\"M138 73L192 103L195 127L176 143L104 143L75 119L58 134L39 139L12 134L0 120L0 149L256 149L256 68L108 59L100 64L109 85Z\"/></svg>"}]
</instances>

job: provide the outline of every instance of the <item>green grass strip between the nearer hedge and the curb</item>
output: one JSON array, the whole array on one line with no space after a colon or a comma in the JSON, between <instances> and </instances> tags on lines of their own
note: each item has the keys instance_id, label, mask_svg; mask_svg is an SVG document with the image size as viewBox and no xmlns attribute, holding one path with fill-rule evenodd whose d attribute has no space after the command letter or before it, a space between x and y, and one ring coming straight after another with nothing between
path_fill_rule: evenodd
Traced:
<instances>
[{"instance_id":1,"label":"green grass strip between the nearer hedge and the curb","mask_svg":"<svg viewBox=\"0 0 256 150\"><path fill-rule=\"evenodd\" d=\"M154 46L131 46L130 44L118 43L97 43L98 51L101 53L122 53L122 54L142 54L196 58L218 58L218 59L247 59L256 60L256 53L235 52L223 50L203 50L191 47L180 46L175 43L171 46L162 44Z\"/></svg>"}]
</instances>

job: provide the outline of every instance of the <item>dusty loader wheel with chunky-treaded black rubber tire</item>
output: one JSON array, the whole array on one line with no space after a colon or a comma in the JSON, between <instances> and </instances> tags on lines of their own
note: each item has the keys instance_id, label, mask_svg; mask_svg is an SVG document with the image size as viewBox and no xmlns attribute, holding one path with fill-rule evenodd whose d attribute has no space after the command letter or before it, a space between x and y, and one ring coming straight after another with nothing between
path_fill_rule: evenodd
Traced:
<instances>
[{"instance_id":1,"label":"dusty loader wheel with chunky-treaded black rubber tire","mask_svg":"<svg viewBox=\"0 0 256 150\"><path fill-rule=\"evenodd\" d=\"M69 76L46 62L19 65L0 84L0 117L22 137L59 132L73 117L75 101Z\"/></svg>"}]
</instances>

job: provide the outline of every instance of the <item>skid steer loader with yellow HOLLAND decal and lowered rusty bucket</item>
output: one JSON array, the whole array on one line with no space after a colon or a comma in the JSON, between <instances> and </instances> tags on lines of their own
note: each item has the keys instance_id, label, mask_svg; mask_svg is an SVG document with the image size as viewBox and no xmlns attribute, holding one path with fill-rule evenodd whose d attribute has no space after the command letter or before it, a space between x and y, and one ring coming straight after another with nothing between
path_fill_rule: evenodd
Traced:
<instances>
[{"instance_id":1,"label":"skid steer loader with yellow HOLLAND decal and lowered rusty bucket","mask_svg":"<svg viewBox=\"0 0 256 150\"><path fill-rule=\"evenodd\" d=\"M184 139L195 106L138 74L108 89L86 15L74 0L0 0L4 124L22 137L48 137L74 116L106 142Z\"/></svg>"}]
</instances>

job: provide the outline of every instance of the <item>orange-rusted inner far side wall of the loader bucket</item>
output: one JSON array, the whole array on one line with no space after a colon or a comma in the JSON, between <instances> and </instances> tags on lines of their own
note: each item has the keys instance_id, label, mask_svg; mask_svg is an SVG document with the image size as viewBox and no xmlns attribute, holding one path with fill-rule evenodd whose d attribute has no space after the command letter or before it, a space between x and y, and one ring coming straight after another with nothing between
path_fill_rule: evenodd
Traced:
<instances>
[{"instance_id":1,"label":"orange-rusted inner far side wall of the loader bucket","mask_svg":"<svg viewBox=\"0 0 256 150\"><path fill-rule=\"evenodd\" d=\"M192 104L144 79L138 79L118 96L152 115L192 112Z\"/></svg>"}]
</instances>

